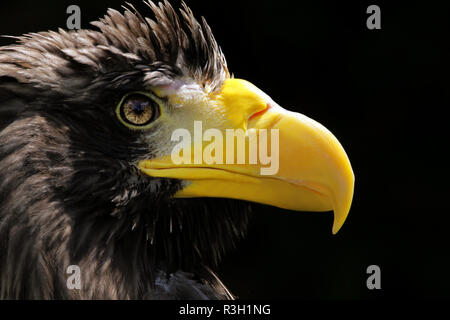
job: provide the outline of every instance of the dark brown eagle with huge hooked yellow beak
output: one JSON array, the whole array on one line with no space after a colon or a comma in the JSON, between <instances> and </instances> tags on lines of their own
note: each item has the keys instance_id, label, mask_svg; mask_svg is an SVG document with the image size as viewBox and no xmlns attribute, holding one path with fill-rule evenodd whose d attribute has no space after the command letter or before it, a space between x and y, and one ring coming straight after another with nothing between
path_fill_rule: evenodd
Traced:
<instances>
[{"instance_id":1,"label":"dark brown eagle with huge hooked yellow beak","mask_svg":"<svg viewBox=\"0 0 450 320\"><path fill-rule=\"evenodd\" d=\"M150 18L127 4L92 30L0 47L2 299L233 299L214 270L252 203L334 211L333 233L348 215L354 174L333 134L235 78L186 4L146 5ZM173 132L195 121L246 141L277 129L277 172L173 161Z\"/></svg>"}]
</instances>

